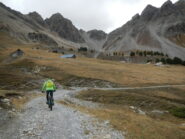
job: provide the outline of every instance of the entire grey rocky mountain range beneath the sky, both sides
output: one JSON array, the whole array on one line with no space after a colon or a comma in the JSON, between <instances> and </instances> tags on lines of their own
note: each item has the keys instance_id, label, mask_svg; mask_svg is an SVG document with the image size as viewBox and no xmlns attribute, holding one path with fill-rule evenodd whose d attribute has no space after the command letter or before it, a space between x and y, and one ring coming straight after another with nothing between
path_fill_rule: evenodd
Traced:
<instances>
[{"instance_id":1,"label":"entire grey rocky mountain range beneath the sky, both sides","mask_svg":"<svg viewBox=\"0 0 185 139\"><path fill-rule=\"evenodd\" d=\"M20 40L43 41L46 44L47 41L43 38L49 38L51 42L48 45L54 44L55 47L63 47L63 44L66 44L104 53L152 50L185 59L185 0L174 4L168 0L160 8L147 5L140 15L136 14L126 24L109 34L96 29L79 30L60 13L43 19L37 12L24 15L3 3L0 3L0 7L0 19L3 23L1 26L7 27L7 30L12 31L11 34ZM31 40L29 33L32 34ZM33 39L33 36L36 38Z\"/></svg>"}]
</instances>

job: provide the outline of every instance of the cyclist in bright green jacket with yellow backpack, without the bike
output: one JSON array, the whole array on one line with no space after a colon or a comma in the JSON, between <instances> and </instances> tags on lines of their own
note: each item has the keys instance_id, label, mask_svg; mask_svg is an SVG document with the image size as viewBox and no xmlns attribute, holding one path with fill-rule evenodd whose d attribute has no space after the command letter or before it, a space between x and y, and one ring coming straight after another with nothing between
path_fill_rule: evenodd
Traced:
<instances>
[{"instance_id":1,"label":"cyclist in bright green jacket with yellow backpack, without the bike","mask_svg":"<svg viewBox=\"0 0 185 139\"><path fill-rule=\"evenodd\" d=\"M46 92L46 100L47 100L46 104L49 103L49 95L53 100L53 92L55 91L56 91L56 85L51 79L48 79L47 81L44 82L42 86L42 93ZM54 105L54 100L53 100L53 105Z\"/></svg>"}]
</instances>

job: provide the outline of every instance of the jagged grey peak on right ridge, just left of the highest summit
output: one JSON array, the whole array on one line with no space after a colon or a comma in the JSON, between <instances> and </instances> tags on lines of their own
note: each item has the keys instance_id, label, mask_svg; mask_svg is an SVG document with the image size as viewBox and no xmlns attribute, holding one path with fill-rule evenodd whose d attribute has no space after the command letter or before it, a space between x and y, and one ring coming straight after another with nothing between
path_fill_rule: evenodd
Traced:
<instances>
[{"instance_id":1,"label":"jagged grey peak on right ridge, just left of the highest summit","mask_svg":"<svg viewBox=\"0 0 185 139\"><path fill-rule=\"evenodd\" d=\"M144 20L150 20L156 14L157 11L158 11L158 8L152 5L147 5L146 8L141 13L141 17Z\"/></svg>"}]
</instances>

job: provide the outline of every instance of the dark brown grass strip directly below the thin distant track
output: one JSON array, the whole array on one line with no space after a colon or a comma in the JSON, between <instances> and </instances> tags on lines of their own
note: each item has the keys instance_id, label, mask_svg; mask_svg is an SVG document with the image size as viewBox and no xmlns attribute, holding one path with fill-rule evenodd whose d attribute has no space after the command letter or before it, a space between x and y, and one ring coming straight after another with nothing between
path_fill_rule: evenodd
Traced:
<instances>
[{"instance_id":1,"label":"dark brown grass strip directly below the thin distant track","mask_svg":"<svg viewBox=\"0 0 185 139\"><path fill-rule=\"evenodd\" d=\"M136 89L136 90L88 90L77 98L103 104L136 106L145 110L170 110L185 107L185 93L176 88Z\"/></svg>"}]
</instances>

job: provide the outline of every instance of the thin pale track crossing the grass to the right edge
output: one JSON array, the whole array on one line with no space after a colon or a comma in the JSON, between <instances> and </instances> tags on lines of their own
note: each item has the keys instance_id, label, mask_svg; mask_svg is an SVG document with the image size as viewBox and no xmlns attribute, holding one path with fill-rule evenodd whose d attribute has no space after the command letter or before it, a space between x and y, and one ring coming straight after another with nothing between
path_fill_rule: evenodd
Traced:
<instances>
[{"instance_id":1,"label":"thin pale track crossing the grass to the right edge","mask_svg":"<svg viewBox=\"0 0 185 139\"><path fill-rule=\"evenodd\" d=\"M121 87L121 88L94 88L99 90L135 90L135 89L155 89L155 88L169 88L181 87L185 85L161 85L161 86L146 86L146 87Z\"/></svg>"}]
</instances>

